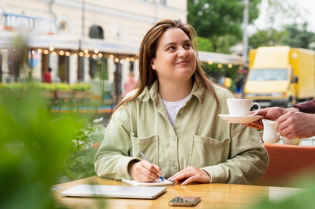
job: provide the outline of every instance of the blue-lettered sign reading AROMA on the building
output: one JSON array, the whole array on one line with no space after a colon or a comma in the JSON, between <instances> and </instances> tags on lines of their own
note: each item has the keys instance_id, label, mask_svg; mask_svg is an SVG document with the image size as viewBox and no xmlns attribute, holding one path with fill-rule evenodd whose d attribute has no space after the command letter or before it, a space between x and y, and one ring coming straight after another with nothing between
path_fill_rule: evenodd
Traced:
<instances>
[{"instance_id":1,"label":"blue-lettered sign reading AROMA on the building","mask_svg":"<svg viewBox=\"0 0 315 209\"><path fill-rule=\"evenodd\" d=\"M55 34L56 24L52 19L5 13L5 30L28 30L44 34Z\"/></svg>"}]
</instances>

